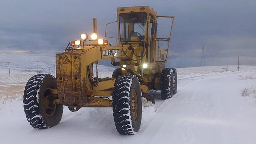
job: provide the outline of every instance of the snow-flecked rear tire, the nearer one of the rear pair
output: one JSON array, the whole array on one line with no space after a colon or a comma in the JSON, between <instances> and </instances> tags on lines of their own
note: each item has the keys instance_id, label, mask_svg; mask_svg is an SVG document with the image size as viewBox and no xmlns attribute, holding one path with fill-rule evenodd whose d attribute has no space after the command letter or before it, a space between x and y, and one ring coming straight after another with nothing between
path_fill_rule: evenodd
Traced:
<instances>
[{"instance_id":1,"label":"snow-flecked rear tire, the nearer one of the rear pair","mask_svg":"<svg viewBox=\"0 0 256 144\"><path fill-rule=\"evenodd\" d=\"M163 100L169 99L173 95L173 71L172 69L163 69L161 75L161 97Z\"/></svg>"}]
</instances>

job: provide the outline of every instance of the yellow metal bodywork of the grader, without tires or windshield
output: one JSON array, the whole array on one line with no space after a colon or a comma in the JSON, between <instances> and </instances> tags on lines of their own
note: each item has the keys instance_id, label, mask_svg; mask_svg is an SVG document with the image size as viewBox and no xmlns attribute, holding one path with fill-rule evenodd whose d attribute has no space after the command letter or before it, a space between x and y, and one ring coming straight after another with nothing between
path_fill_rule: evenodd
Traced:
<instances>
[{"instance_id":1,"label":"yellow metal bodywork of the grader, without tires or windshield","mask_svg":"<svg viewBox=\"0 0 256 144\"><path fill-rule=\"evenodd\" d=\"M83 107L111 107L110 100L93 96L111 96L115 78L93 79L93 64L99 60L111 59L116 66L126 65L123 74L134 74L141 82L141 90L148 93L148 89L159 89L159 77L165 68L165 62L156 62L156 34L150 32L150 25L157 22L157 12L149 6L135 6L117 8L118 22L120 13L146 13L146 26L144 40L141 42L126 43L120 39L120 25L118 25L119 45L85 44L79 48L68 48L65 52L56 54L56 78L59 103L68 106ZM94 33L97 33L97 20L94 21ZM134 25L127 26L128 33L132 32ZM171 31L172 32L172 31ZM114 54L117 53L115 56ZM168 54L168 53L167 53ZM115 62L115 58L119 61ZM147 63L148 68L143 72L142 64ZM89 69L89 70L88 70ZM91 82L93 80L93 83ZM96 85L94 84L97 83Z\"/></svg>"}]
</instances>

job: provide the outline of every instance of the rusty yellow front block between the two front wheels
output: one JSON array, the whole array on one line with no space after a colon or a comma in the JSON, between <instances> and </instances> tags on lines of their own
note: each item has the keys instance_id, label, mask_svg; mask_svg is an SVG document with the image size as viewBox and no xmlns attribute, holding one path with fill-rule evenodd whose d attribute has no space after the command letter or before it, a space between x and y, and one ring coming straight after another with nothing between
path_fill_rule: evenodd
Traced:
<instances>
[{"instance_id":1,"label":"rusty yellow front block between the two front wheels","mask_svg":"<svg viewBox=\"0 0 256 144\"><path fill-rule=\"evenodd\" d=\"M81 56L71 52L56 54L57 91L60 104L82 105L87 95L82 90Z\"/></svg>"}]
</instances>

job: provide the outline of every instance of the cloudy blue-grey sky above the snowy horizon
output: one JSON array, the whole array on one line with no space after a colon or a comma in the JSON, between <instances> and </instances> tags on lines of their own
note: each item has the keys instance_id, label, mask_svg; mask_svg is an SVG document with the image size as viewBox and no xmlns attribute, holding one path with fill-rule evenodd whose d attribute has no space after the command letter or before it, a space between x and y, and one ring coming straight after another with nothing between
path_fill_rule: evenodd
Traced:
<instances>
[{"instance_id":1,"label":"cloudy blue-grey sky above the snowy horizon","mask_svg":"<svg viewBox=\"0 0 256 144\"><path fill-rule=\"evenodd\" d=\"M116 7L137 5L176 17L173 67L199 66L202 45L205 65L234 65L238 56L241 64L256 65L256 0L1 0L0 48L65 48L93 32L93 17L103 37Z\"/></svg>"}]
</instances>

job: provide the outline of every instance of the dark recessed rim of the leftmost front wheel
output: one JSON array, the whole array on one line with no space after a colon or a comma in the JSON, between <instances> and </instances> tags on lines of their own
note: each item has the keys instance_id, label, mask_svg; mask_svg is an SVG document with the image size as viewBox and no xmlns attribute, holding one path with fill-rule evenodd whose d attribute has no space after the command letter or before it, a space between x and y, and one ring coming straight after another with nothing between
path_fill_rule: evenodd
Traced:
<instances>
[{"instance_id":1,"label":"dark recessed rim of the leftmost front wheel","mask_svg":"<svg viewBox=\"0 0 256 144\"><path fill-rule=\"evenodd\" d=\"M47 88L44 91L44 101L43 106L45 109L45 113L48 117L52 117L54 115L57 105L53 104L54 97L52 96L52 90L51 88Z\"/></svg>"}]
</instances>

